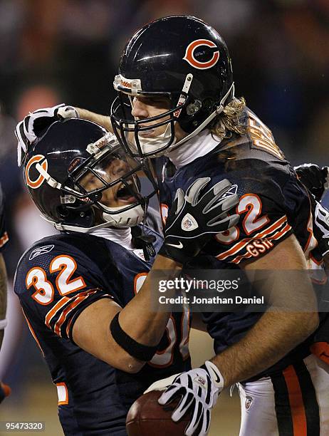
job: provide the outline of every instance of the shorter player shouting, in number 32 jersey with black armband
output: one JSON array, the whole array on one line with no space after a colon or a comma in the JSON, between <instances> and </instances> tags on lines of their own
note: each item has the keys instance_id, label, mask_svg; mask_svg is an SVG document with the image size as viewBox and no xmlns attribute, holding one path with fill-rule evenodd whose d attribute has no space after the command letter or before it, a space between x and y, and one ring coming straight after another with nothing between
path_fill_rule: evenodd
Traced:
<instances>
[{"instance_id":1,"label":"shorter player shouting, in number 32 jersey with black armband","mask_svg":"<svg viewBox=\"0 0 329 436\"><path fill-rule=\"evenodd\" d=\"M128 164L115 136L99 125L63 118L39 123L38 135L20 142L28 192L61 233L23 254L14 291L57 386L64 433L126 435L127 410L145 388L190 368L189 313L152 309L152 280L161 273L147 276L152 264L169 275L181 266L155 256L160 247L170 251L170 239L162 244L140 226L147 206L136 175L140 163ZM20 140L24 128L16 128ZM226 214L237 196L221 199L231 185L223 181L201 197L207 183L197 180L172 209L174 235L186 213L198 219L194 251L183 250L190 258L208 232L238 220Z\"/></svg>"}]
</instances>

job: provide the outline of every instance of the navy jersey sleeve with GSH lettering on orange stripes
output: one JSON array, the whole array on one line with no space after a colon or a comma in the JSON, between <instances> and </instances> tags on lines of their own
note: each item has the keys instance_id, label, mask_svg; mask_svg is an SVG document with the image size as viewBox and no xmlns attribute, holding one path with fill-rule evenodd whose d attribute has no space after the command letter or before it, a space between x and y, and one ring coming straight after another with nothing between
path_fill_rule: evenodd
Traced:
<instances>
[{"instance_id":1,"label":"navy jersey sleeve with GSH lettering on orange stripes","mask_svg":"<svg viewBox=\"0 0 329 436\"><path fill-rule=\"evenodd\" d=\"M206 249L220 261L241 264L266 254L293 233L289 217L303 193L292 186L287 190L266 175L263 180L227 178L232 182L228 194L239 194L236 213L240 220L226 232L216 234Z\"/></svg>"}]
</instances>

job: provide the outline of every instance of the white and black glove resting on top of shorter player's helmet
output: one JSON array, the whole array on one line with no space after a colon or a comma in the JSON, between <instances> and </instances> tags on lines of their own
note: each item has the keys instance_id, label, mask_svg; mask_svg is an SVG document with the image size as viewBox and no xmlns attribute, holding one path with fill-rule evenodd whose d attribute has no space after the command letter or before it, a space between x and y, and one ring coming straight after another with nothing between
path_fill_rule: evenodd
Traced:
<instances>
[{"instance_id":1,"label":"white and black glove resting on top of shorter player's helmet","mask_svg":"<svg viewBox=\"0 0 329 436\"><path fill-rule=\"evenodd\" d=\"M65 103L53 106L53 108L43 108L34 110L16 125L15 135L19 141L17 145L17 157L19 167L23 161L28 147L44 132L52 123L65 118L79 118L78 111L73 106Z\"/></svg>"}]
</instances>

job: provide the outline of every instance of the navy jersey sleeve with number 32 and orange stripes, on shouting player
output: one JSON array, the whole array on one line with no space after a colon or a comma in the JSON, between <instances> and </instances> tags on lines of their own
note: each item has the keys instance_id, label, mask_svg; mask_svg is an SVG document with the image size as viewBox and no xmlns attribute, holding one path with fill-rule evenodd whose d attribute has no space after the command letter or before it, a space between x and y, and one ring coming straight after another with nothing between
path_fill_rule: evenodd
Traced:
<instances>
[{"instance_id":1,"label":"navy jersey sleeve with number 32 and orange stripes, on shouting player","mask_svg":"<svg viewBox=\"0 0 329 436\"><path fill-rule=\"evenodd\" d=\"M25 313L61 338L72 339L80 313L99 299L117 300L98 266L74 247L46 244L27 251L16 271L14 290Z\"/></svg>"}]
</instances>

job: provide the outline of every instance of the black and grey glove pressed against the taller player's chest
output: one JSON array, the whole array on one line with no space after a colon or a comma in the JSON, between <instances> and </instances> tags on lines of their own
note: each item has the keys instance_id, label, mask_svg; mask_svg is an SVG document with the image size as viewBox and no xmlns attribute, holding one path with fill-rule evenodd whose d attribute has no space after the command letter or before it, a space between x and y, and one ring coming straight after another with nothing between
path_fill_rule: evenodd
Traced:
<instances>
[{"instance_id":1,"label":"black and grey glove pressed against the taller player's chest","mask_svg":"<svg viewBox=\"0 0 329 436\"><path fill-rule=\"evenodd\" d=\"M239 215L234 213L239 196L227 194L229 180L221 180L203 193L210 181L210 177L195 180L186 194L177 190L159 254L185 264L199 254L211 234L225 232L239 222Z\"/></svg>"}]
</instances>

